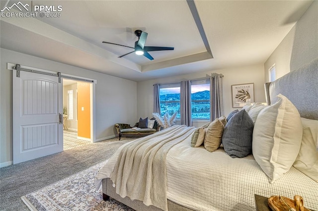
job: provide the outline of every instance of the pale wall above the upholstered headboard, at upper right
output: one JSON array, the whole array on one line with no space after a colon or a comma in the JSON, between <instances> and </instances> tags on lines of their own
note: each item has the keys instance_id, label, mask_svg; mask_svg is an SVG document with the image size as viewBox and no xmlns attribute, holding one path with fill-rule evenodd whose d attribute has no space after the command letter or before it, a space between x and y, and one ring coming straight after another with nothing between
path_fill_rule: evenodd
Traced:
<instances>
[{"instance_id":1,"label":"pale wall above the upholstered headboard, at upper right","mask_svg":"<svg viewBox=\"0 0 318 211\"><path fill-rule=\"evenodd\" d=\"M265 80L268 69L275 63L276 78L318 57L318 1L315 0L264 64Z\"/></svg>"}]
</instances>

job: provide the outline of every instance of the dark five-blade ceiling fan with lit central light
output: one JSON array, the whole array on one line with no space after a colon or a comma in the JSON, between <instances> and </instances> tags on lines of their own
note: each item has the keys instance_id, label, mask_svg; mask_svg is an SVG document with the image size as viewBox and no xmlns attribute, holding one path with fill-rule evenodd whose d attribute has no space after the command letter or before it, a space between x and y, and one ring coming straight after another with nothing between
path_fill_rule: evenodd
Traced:
<instances>
[{"instance_id":1,"label":"dark five-blade ceiling fan with lit central light","mask_svg":"<svg viewBox=\"0 0 318 211\"><path fill-rule=\"evenodd\" d=\"M141 30L136 30L135 31L135 35L138 37L138 41L135 42L135 48L129 47L129 46L120 45L120 44L116 44L116 43L109 43L109 42L105 42L105 41L103 41L103 43L113 44L113 45L117 45L117 46L124 46L124 47L127 47L127 48L134 49L134 51L132 51L132 52L125 53L123 55L118 56L119 58L121 58L121 57L123 57L125 55L128 55L130 53L134 53L135 52L137 55L144 55L147 58L149 58L150 60L154 60L153 56L151 56L148 52L174 50L173 47L145 46L148 33L143 32Z\"/></svg>"}]
</instances>

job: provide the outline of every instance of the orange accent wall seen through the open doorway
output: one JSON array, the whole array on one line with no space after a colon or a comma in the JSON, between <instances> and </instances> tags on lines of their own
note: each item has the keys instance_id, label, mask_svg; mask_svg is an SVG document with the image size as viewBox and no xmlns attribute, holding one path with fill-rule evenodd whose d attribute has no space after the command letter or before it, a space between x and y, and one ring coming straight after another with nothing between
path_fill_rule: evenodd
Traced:
<instances>
[{"instance_id":1,"label":"orange accent wall seen through the open doorway","mask_svg":"<svg viewBox=\"0 0 318 211\"><path fill-rule=\"evenodd\" d=\"M90 84L85 82L78 82L78 136L90 139Z\"/></svg>"}]
</instances>

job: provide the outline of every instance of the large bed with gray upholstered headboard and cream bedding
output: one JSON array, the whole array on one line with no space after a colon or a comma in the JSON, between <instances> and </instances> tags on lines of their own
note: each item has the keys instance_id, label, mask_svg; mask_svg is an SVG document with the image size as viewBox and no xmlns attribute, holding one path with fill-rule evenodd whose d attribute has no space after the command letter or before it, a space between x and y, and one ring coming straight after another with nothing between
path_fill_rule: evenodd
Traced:
<instances>
[{"instance_id":1,"label":"large bed with gray upholstered headboard and cream bedding","mask_svg":"<svg viewBox=\"0 0 318 211\"><path fill-rule=\"evenodd\" d=\"M275 155L276 148L279 155L288 151L290 157L297 151L297 159L302 151L306 150L305 154L309 152L303 147L303 131L305 134L305 129L309 130L304 127L304 121L318 125L317 84L318 58L275 82L265 84L266 101L272 106L264 110L270 110L288 99L287 102L291 102L302 117L300 123L297 119L298 125L295 123L292 129L297 130L296 125L298 129L301 127L301 134L294 135L300 136L298 150L289 150L288 145L284 148L282 139L280 148L274 145L269 156ZM287 114L286 118L292 116ZM261 121L263 116L266 120L268 115L260 111L254 125L253 155L231 158L222 146L212 153L204 146L193 148L190 146L191 137L196 128L176 125L119 148L96 175L96 188L102 185L104 200L111 197L137 211L254 211L254 194L289 198L301 195L305 207L318 210L318 128L309 131L315 139L315 144L309 149L312 153L310 158L314 159L312 169L307 172L299 170L303 163L296 165L295 156L287 158L295 161L288 169L279 163L274 163L274 167L268 166L268 163L262 163L263 155L259 155L266 152L267 146L267 142L264 148L259 145L262 144L259 134L267 121ZM280 120L275 121L277 125ZM286 121L281 123L288 125L290 120ZM276 133L274 136L277 136ZM284 131L280 134L284 135ZM128 151L130 147L132 149ZM275 159L272 157L270 162ZM274 169L273 174L268 172L269 168Z\"/></svg>"}]
</instances>

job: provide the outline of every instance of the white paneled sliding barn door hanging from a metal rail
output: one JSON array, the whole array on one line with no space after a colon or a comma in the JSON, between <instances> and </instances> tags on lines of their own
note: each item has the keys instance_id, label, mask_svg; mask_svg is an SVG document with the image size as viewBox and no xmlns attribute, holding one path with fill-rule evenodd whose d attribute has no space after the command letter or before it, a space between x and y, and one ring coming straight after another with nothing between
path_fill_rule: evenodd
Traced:
<instances>
[{"instance_id":1,"label":"white paneled sliding barn door hanging from a metal rail","mask_svg":"<svg viewBox=\"0 0 318 211\"><path fill-rule=\"evenodd\" d=\"M12 75L13 164L63 151L62 83L16 70Z\"/></svg>"}]
</instances>

